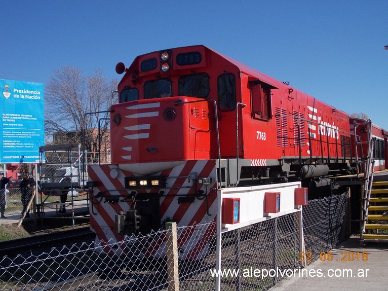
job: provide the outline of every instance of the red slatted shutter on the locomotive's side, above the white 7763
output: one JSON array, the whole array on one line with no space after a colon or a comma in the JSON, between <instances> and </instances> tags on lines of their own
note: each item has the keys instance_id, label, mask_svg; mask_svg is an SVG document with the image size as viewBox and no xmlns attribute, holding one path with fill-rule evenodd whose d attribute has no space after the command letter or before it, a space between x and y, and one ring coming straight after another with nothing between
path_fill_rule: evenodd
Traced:
<instances>
[{"instance_id":1,"label":"red slatted shutter on the locomotive's side, above the white 7763","mask_svg":"<svg viewBox=\"0 0 388 291\"><path fill-rule=\"evenodd\" d=\"M270 120L272 118L270 100L271 87L256 81L250 83L253 118Z\"/></svg>"}]
</instances>

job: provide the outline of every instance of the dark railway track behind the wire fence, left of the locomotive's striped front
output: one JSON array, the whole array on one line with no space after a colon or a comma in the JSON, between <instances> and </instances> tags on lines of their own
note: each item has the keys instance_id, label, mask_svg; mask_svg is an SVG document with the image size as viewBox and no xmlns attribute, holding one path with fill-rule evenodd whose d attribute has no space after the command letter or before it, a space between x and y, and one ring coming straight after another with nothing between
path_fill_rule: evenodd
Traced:
<instances>
[{"instance_id":1,"label":"dark railway track behind the wire fence, left of the locomotive's striped front","mask_svg":"<svg viewBox=\"0 0 388 291\"><path fill-rule=\"evenodd\" d=\"M78 228L38 236L13 239L0 242L0 257L12 256L24 252L36 252L54 246L63 246L80 241L92 241L95 233L89 227Z\"/></svg>"}]
</instances>

